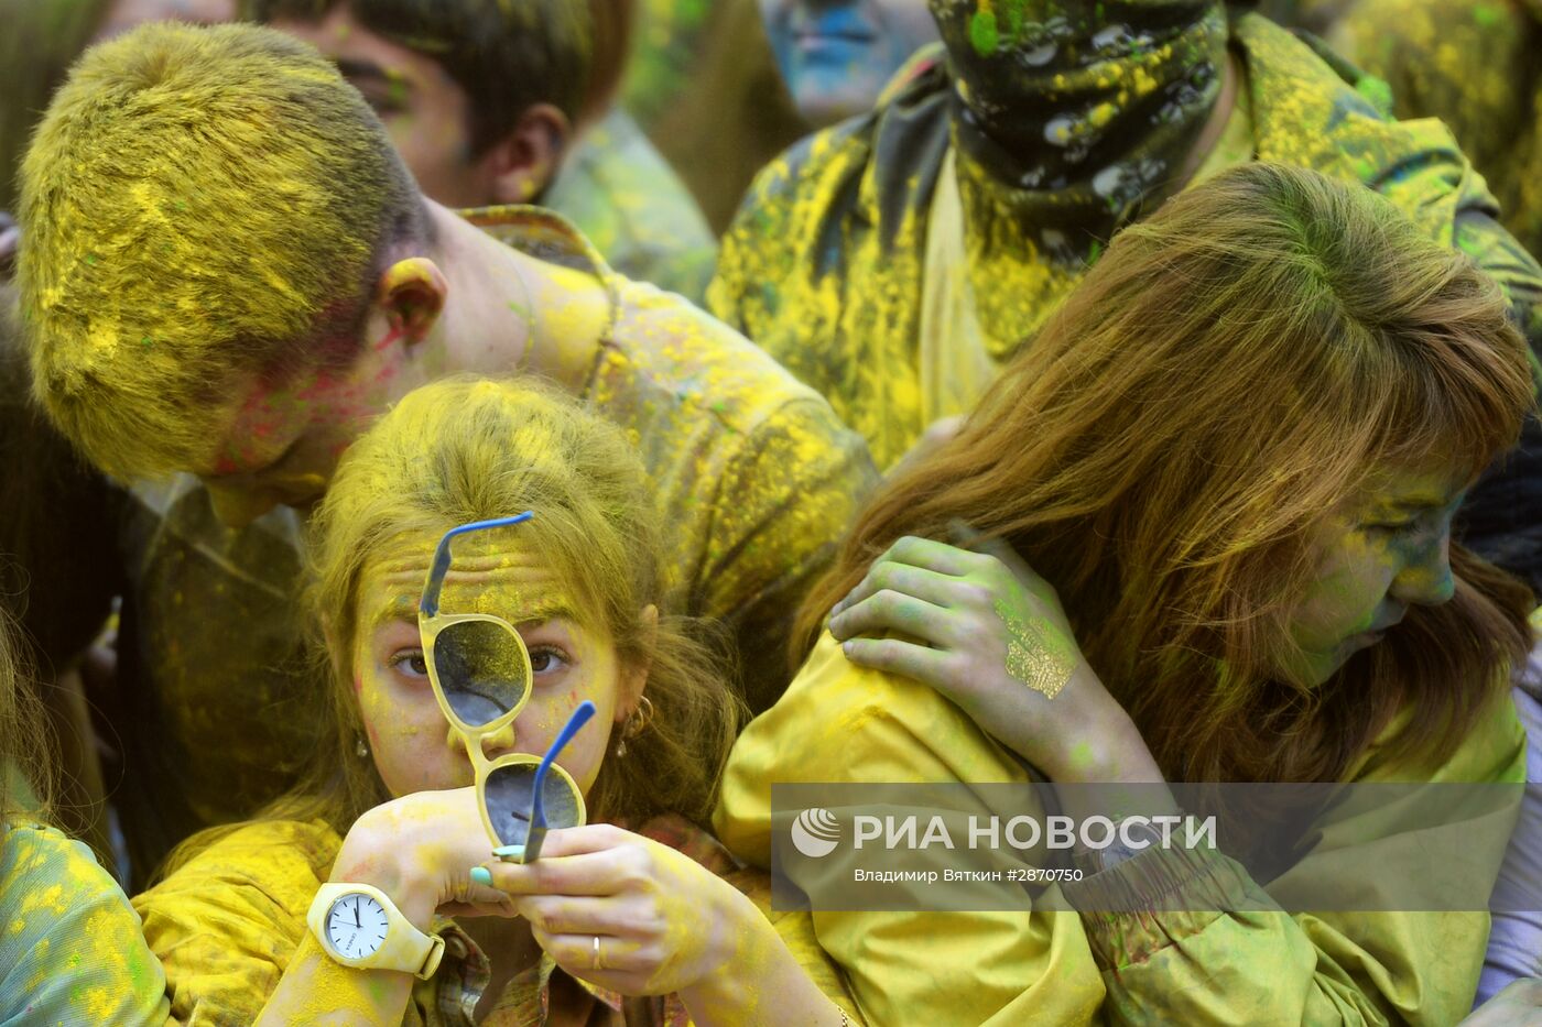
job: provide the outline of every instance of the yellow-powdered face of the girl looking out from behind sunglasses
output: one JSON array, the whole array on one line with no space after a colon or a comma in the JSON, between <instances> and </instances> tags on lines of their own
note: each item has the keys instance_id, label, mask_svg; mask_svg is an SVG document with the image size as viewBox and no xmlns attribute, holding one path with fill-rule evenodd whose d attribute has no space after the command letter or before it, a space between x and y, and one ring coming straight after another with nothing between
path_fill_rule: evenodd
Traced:
<instances>
[{"instance_id":1,"label":"yellow-powdered face of the girl looking out from behind sunglasses","mask_svg":"<svg viewBox=\"0 0 1542 1027\"><path fill-rule=\"evenodd\" d=\"M418 600L438 541L415 534L387 543L359 581L353 689L375 766L398 797L472 783L470 759L433 697L418 635ZM635 709L646 674L621 666L609 634L581 623L572 591L506 532L455 541L439 611L501 617L530 652L530 699L509 728L483 739L489 759L544 754L574 708L594 702L592 723L557 760L588 791L611 726Z\"/></svg>"}]
</instances>

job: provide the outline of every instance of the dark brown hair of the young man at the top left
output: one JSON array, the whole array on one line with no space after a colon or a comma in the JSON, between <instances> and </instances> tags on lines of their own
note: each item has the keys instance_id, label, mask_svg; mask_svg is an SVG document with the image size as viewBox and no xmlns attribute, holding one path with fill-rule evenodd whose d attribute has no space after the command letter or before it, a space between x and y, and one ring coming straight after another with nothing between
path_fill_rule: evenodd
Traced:
<instances>
[{"instance_id":1,"label":"dark brown hair of the young man at the top left","mask_svg":"<svg viewBox=\"0 0 1542 1027\"><path fill-rule=\"evenodd\" d=\"M321 20L342 0L247 0L259 22ZM432 57L466 93L472 156L550 103L577 123L589 89L589 0L347 0L372 32Z\"/></svg>"}]
</instances>

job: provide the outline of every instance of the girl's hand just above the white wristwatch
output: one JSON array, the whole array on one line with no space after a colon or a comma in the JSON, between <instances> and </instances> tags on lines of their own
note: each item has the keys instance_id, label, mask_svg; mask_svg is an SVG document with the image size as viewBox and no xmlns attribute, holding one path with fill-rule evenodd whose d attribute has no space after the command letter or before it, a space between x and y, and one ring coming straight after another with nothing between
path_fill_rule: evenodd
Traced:
<instances>
[{"instance_id":1,"label":"girl's hand just above the white wristwatch","mask_svg":"<svg viewBox=\"0 0 1542 1027\"><path fill-rule=\"evenodd\" d=\"M359 817L332 865L333 881L375 885L418 930L444 916L513 916L509 896L470 879L492 848L475 788L419 791Z\"/></svg>"}]
</instances>

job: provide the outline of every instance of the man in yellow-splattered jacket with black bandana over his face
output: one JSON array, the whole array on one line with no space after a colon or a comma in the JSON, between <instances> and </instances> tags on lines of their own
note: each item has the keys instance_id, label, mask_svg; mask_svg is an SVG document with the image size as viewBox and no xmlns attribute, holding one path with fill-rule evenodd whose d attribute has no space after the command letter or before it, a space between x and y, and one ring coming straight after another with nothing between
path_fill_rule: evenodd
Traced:
<instances>
[{"instance_id":1,"label":"man in yellow-splattered jacket with black bandana over his face","mask_svg":"<svg viewBox=\"0 0 1542 1027\"><path fill-rule=\"evenodd\" d=\"M1119 225L1254 159L1383 193L1499 279L1542 336L1542 270L1494 222L1449 131L1386 120L1272 22L1229 19L1220 0L931 11L942 46L901 69L871 114L762 171L708 293L830 398L880 467L973 406ZM1468 504L1466 541L1542 581L1533 478L1511 456Z\"/></svg>"}]
</instances>

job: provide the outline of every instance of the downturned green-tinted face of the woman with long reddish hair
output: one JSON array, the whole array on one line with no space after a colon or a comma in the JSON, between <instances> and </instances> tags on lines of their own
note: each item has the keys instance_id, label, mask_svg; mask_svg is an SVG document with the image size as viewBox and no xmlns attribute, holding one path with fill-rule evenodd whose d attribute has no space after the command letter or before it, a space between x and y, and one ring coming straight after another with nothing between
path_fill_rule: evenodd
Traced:
<instances>
[{"instance_id":1,"label":"downturned green-tinted face of the woman with long reddish hair","mask_svg":"<svg viewBox=\"0 0 1542 1027\"><path fill-rule=\"evenodd\" d=\"M1409 606L1451 598L1451 518L1463 492L1449 473L1379 473L1317 527L1317 574L1289 618L1300 655L1284 677L1321 685Z\"/></svg>"}]
</instances>

